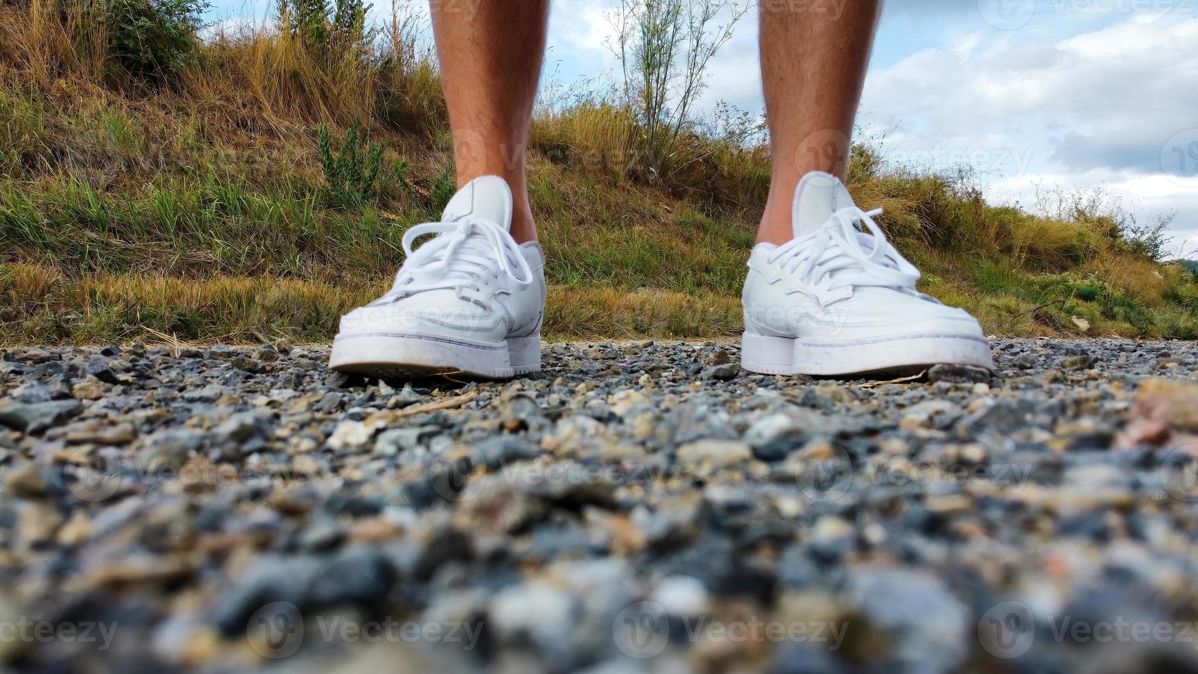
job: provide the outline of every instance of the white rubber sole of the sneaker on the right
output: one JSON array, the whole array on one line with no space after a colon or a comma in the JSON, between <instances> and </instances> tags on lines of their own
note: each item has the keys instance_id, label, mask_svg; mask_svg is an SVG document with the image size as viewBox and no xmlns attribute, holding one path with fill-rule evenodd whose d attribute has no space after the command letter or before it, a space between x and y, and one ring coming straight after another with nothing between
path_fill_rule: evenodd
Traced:
<instances>
[{"instance_id":1,"label":"white rubber sole of the sneaker on the right","mask_svg":"<svg viewBox=\"0 0 1198 674\"><path fill-rule=\"evenodd\" d=\"M740 366L762 375L861 375L939 364L994 369L990 342L976 335L924 334L818 342L745 333Z\"/></svg>"}]
</instances>

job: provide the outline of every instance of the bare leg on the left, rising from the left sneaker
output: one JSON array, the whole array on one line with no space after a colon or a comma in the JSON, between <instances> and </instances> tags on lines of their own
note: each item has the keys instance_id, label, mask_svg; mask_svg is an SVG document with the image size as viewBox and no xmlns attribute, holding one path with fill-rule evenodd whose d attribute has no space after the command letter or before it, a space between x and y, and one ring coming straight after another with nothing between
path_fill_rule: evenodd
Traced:
<instances>
[{"instance_id":1,"label":"bare leg on the left, rising from the left sneaker","mask_svg":"<svg viewBox=\"0 0 1198 674\"><path fill-rule=\"evenodd\" d=\"M518 243L533 241L525 150L545 55L549 0L430 6L458 187L486 175L507 180L515 196L512 236Z\"/></svg>"}]
</instances>

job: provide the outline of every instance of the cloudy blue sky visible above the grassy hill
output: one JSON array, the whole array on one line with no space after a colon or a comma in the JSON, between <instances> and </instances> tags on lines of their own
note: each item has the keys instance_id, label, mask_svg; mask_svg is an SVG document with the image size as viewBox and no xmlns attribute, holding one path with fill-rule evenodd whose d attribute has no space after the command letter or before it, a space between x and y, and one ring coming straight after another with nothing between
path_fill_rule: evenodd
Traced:
<instances>
[{"instance_id":1,"label":"cloudy blue sky visible above the grassy hill","mask_svg":"<svg viewBox=\"0 0 1198 674\"><path fill-rule=\"evenodd\" d=\"M853 0L788 1L835 18ZM607 13L618 4L553 1L546 84L615 66ZM261 19L271 7L216 0L208 18ZM763 109L756 37L749 12L712 61L701 109ZM1037 189L1101 190L1142 223L1175 214L1172 251L1198 257L1196 45L1198 0L891 0L858 126L884 138L891 162L969 164L992 202L1034 210Z\"/></svg>"}]
</instances>

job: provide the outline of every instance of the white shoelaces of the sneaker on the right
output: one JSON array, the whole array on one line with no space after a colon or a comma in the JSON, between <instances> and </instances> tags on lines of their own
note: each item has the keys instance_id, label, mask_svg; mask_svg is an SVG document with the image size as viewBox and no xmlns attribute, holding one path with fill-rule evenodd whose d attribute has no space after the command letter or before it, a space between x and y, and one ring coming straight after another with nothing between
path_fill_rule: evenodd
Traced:
<instances>
[{"instance_id":1,"label":"white shoelaces of the sneaker on the right","mask_svg":"<svg viewBox=\"0 0 1198 674\"><path fill-rule=\"evenodd\" d=\"M768 261L780 261L812 284L827 280L831 289L851 285L914 290L919 269L895 250L873 221L881 214L882 208L841 208L819 231L780 245ZM858 230L857 223L863 223L869 233Z\"/></svg>"}]
</instances>

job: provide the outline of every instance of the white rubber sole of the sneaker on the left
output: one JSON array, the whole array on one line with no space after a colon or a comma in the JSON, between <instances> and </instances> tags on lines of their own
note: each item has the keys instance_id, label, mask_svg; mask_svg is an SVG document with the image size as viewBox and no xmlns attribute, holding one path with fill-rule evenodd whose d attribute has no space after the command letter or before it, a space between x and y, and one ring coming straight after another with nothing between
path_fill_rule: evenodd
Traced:
<instances>
[{"instance_id":1,"label":"white rubber sole of the sneaker on the left","mask_svg":"<svg viewBox=\"0 0 1198 674\"><path fill-rule=\"evenodd\" d=\"M341 334L333 340L328 365L374 377L461 374L506 379L540 371L540 335L492 344L416 334Z\"/></svg>"}]
</instances>

